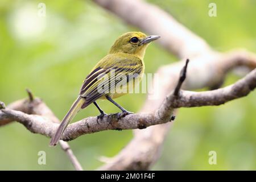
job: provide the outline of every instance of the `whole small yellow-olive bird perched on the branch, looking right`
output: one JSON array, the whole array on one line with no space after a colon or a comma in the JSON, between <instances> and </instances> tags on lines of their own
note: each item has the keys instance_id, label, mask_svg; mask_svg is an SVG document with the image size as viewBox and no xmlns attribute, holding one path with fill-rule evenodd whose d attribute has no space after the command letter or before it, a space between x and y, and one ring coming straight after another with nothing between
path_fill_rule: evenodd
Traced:
<instances>
[{"instance_id":1,"label":"whole small yellow-olive bird perched on the branch, looking right","mask_svg":"<svg viewBox=\"0 0 256 182\"><path fill-rule=\"evenodd\" d=\"M97 119L102 119L106 113L98 106L96 100L103 99L112 102L121 109L122 117L132 114L113 99L126 94L127 92L121 91L127 91L130 83L133 83L134 88L142 80L146 48L149 43L159 38L158 35L147 36L142 32L126 32L119 36L110 48L108 55L103 57L86 76L79 96L61 121L49 146L55 146L59 142L69 122L88 105L93 103L100 111Z\"/></svg>"}]
</instances>

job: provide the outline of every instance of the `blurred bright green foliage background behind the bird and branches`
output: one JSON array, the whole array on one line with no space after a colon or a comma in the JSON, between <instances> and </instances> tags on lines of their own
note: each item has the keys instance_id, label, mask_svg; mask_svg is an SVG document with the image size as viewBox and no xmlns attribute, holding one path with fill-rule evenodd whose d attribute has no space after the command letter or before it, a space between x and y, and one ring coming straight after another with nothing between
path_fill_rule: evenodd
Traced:
<instances>
[{"instance_id":1,"label":"blurred bright green foliage background behind the bird and branches","mask_svg":"<svg viewBox=\"0 0 256 182\"><path fill-rule=\"evenodd\" d=\"M39 17L38 4L46 4ZM218 51L247 48L256 52L256 1L150 0L172 14ZM208 16L210 2L217 17ZM42 98L60 119L75 100L81 83L114 42L127 31L137 31L91 1L0 1L0 100L9 104L27 97L25 89ZM164 38L164 37L162 37ZM157 44L148 47L146 73L178 59ZM225 85L238 76L230 73ZM146 94L131 94L117 102L138 111ZM136 103L134 102L136 101ZM106 113L117 112L99 102ZM256 92L218 107L180 109L164 142L162 156L152 169L256 169ZM76 119L98 115L89 106ZM69 142L84 169L101 166L100 156L114 156L132 138L131 131L102 131ZM49 148L49 138L32 134L19 123L0 128L0 169L73 169L60 147ZM38 164L46 151L47 164ZM208 152L217 152L217 164Z\"/></svg>"}]
</instances>

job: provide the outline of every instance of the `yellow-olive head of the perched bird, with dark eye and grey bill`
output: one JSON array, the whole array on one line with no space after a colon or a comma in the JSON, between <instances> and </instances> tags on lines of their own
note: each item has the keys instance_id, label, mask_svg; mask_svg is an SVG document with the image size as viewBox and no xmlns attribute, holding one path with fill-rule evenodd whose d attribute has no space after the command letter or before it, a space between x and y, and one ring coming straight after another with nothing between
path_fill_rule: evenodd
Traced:
<instances>
[{"instance_id":1,"label":"yellow-olive head of the perched bird, with dark eye and grey bill","mask_svg":"<svg viewBox=\"0 0 256 182\"><path fill-rule=\"evenodd\" d=\"M142 32L127 32L115 40L109 53L131 53L143 59L148 44L159 38L158 35L147 36Z\"/></svg>"}]
</instances>

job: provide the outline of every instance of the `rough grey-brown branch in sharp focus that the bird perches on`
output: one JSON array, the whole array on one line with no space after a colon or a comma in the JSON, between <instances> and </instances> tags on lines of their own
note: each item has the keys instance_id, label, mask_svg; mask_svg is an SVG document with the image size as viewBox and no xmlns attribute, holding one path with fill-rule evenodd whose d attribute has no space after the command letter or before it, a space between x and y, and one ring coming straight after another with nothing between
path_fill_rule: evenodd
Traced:
<instances>
[{"instance_id":1,"label":"rough grey-brown branch in sharp focus that the bird perches on","mask_svg":"<svg viewBox=\"0 0 256 182\"><path fill-rule=\"evenodd\" d=\"M189 92L180 90L178 95L170 94L160 108L152 113L130 114L117 119L115 114L107 115L103 119L88 117L72 123L64 132L63 140L73 140L81 135L115 129L144 129L148 126L158 125L171 121L171 115L178 107L195 107L220 105L225 102L249 94L256 87L256 69L235 84L225 88L207 92ZM32 133L39 133L52 137L58 124L39 115L29 115L21 111L2 109L2 117L11 118L22 123ZM1 119L1 118L0 118Z\"/></svg>"}]
</instances>

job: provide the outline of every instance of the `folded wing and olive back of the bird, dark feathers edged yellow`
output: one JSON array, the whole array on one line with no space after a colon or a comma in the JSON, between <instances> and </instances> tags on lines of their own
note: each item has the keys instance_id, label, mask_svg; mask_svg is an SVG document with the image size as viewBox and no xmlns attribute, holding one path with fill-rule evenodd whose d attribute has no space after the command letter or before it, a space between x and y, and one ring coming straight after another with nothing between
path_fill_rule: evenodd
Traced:
<instances>
[{"instance_id":1,"label":"folded wing and olive back of the bird, dark feathers edged yellow","mask_svg":"<svg viewBox=\"0 0 256 182\"><path fill-rule=\"evenodd\" d=\"M114 61L108 61L109 59L112 57L102 60L85 78L80 90L80 96L85 98L84 106L110 93L117 86L126 84L133 74L136 74L133 77L137 77L142 71L142 62L138 58L135 60L115 56Z\"/></svg>"}]
</instances>

